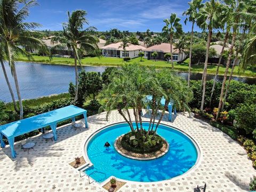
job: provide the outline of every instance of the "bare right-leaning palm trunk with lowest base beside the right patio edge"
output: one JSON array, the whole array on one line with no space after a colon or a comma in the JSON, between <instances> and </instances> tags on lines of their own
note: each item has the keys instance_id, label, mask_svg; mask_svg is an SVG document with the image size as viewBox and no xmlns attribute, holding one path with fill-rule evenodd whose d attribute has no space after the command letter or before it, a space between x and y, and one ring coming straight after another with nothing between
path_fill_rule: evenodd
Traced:
<instances>
[{"instance_id":1,"label":"bare right-leaning palm trunk with lowest base beside the right patio edge","mask_svg":"<svg viewBox=\"0 0 256 192\"><path fill-rule=\"evenodd\" d=\"M229 54L228 54L228 61L227 61L227 65L226 65L226 70L225 70L225 74L224 74L223 82L222 82L222 86L221 86L220 102L219 102L219 107L218 107L218 113L216 115L216 121L219 118L221 106L222 106L222 103L223 103L223 93L224 93L224 89L225 89L225 85L226 85L228 69L229 69L229 65L230 65L230 62L231 62L231 57L232 57L233 51L234 51L233 48L234 48L234 44L235 44L235 39L236 39L236 33L234 32L233 37L232 37L232 43L231 43L231 46L230 46L230 51L229 51Z\"/></svg>"}]
</instances>

